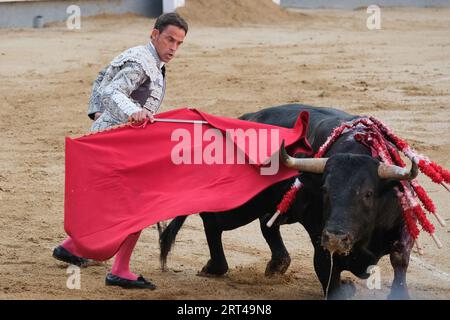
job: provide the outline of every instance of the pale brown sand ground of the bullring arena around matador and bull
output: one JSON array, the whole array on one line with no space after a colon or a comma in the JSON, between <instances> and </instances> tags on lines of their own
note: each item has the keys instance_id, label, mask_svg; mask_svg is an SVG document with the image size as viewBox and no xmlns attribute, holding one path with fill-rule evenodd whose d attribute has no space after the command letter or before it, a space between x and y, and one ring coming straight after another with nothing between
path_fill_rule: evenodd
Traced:
<instances>
[{"instance_id":1,"label":"pale brown sand ground of the bullring arena around matador and bull","mask_svg":"<svg viewBox=\"0 0 450 320\"><path fill-rule=\"evenodd\" d=\"M450 9L383 8L377 31L366 28L367 16L317 10L285 23L194 23L168 66L163 109L237 117L293 102L338 107L378 117L449 168ZM123 49L145 43L152 24L124 15L83 19L79 31L63 24L0 30L0 299L321 299L300 225L282 228L292 257L283 276L264 277L270 251L256 222L224 234L226 276L196 276L209 257L198 216L181 230L167 272L159 270L156 230L143 232L132 266L158 290L105 287L111 262L82 269L80 290L66 287L67 266L51 257L65 236L64 137L87 132L97 72ZM448 193L421 181L450 222ZM413 298L450 298L449 227L437 226L437 235L443 249L423 235L425 255L412 258ZM385 298L388 258L380 268L381 290L355 279L356 298Z\"/></svg>"}]
</instances>

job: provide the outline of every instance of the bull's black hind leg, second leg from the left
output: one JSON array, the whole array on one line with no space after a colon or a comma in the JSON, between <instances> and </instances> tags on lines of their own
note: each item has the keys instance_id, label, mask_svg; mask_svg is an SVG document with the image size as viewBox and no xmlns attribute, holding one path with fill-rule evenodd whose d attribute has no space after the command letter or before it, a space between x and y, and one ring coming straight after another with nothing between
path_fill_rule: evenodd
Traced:
<instances>
[{"instance_id":1,"label":"bull's black hind leg, second leg from the left","mask_svg":"<svg viewBox=\"0 0 450 320\"><path fill-rule=\"evenodd\" d=\"M265 275L270 277L275 274L284 274L291 264L291 257L281 238L280 226L267 227L265 217L261 217L259 222L264 239L266 239L272 252L272 258L267 263Z\"/></svg>"}]
</instances>

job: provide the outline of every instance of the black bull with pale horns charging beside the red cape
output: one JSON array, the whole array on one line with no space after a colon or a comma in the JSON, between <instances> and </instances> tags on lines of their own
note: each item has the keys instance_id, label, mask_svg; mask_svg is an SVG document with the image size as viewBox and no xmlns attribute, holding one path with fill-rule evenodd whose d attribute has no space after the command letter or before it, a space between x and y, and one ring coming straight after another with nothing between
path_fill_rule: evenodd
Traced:
<instances>
[{"instance_id":1,"label":"black bull with pale horns charging beside the red cape","mask_svg":"<svg viewBox=\"0 0 450 320\"><path fill-rule=\"evenodd\" d=\"M358 118L332 108L283 105L245 114L240 119L293 127L302 111L310 114L307 137L315 152L335 127ZM281 238L280 224L300 222L311 238L314 268L329 298L347 298L354 294L353 284L341 281L342 271L348 270L357 277L367 278L370 276L368 267L376 265L387 254L394 268L389 297L409 298L406 271L413 243L406 232L394 190L396 186L401 188L399 180L405 177L380 178L379 160L372 158L370 150L350 135L350 132L343 134L325 154L328 161L324 168L322 166L322 174L300 170L304 186L289 211L279 217L271 228L266 226L266 222L294 179L269 187L229 212L201 213L211 255L201 274L225 274L228 264L222 247L222 232L257 218L272 252L266 275L286 272L291 259ZM286 164L292 164L296 159L290 158L289 161ZM175 218L161 235L163 267L185 219ZM331 278L330 252L335 252Z\"/></svg>"}]
</instances>

